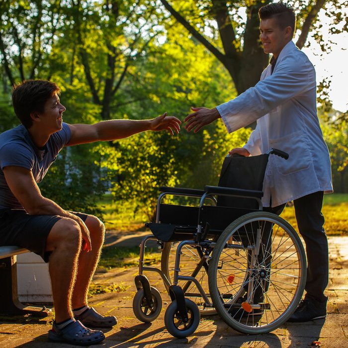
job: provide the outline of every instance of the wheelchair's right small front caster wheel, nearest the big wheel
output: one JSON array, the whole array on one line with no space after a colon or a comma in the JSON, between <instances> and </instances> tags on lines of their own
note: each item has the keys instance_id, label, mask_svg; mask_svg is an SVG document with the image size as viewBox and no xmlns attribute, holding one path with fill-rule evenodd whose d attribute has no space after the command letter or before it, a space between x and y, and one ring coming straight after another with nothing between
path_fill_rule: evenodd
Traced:
<instances>
[{"instance_id":1,"label":"wheelchair's right small front caster wheel, nearest the big wheel","mask_svg":"<svg viewBox=\"0 0 348 348\"><path fill-rule=\"evenodd\" d=\"M198 328L200 314L197 305L185 298L188 320L186 323L181 319L177 311L177 303L174 300L167 308L165 313L165 325L168 332L178 339L192 335Z\"/></svg>"}]
</instances>

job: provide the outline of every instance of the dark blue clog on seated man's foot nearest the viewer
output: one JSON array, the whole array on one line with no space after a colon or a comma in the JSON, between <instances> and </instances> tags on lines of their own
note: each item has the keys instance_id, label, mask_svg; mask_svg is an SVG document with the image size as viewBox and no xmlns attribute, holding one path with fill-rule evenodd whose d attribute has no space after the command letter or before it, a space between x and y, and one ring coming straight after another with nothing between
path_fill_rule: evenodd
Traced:
<instances>
[{"instance_id":1,"label":"dark blue clog on seated man's foot nearest the viewer","mask_svg":"<svg viewBox=\"0 0 348 348\"><path fill-rule=\"evenodd\" d=\"M54 342L70 343L77 346L97 345L105 339L104 334L98 330L90 330L79 321L73 322L59 330L56 322L53 322L52 330L48 332L48 338Z\"/></svg>"}]
</instances>

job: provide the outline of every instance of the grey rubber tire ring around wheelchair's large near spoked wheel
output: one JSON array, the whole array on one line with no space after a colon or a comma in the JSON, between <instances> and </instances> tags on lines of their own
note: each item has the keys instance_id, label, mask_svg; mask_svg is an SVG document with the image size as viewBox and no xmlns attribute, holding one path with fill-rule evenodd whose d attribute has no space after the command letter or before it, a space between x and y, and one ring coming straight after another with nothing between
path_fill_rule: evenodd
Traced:
<instances>
[{"instance_id":1,"label":"grey rubber tire ring around wheelchair's large near spoked wheel","mask_svg":"<svg viewBox=\"0 0 348 348\"><path fill-rule=\"evenodd\" d=\"M302 265L301 267L302 276L297 286L297 293L295 297L293 298L288 308L281 314L281 316L268 325L265 325L261 328L251 329L251 328L247 328L245 325L240 324L236 320L233 320L233 319L231 320L231 317L224 310L223 305L221 303L220 293L217 288L216 269L218 266L220 253L226 244L225 241L229 237L229 235L232 233L232 231L235 229L238 229L242 224L246 224L250 222L251 220L254 220L257 218L259 219L268 218L268 219L275 220L278 224L281 224L283 226L282 228L284 230L286 229L289 236L292 236L291 239L294 245L296 245L297 253L300 256L299 260ZM287 221L285 221L283 218L279 217L278 215L268 213L268 212L253 212L253 213L248 213L246 215L243 215L240 218L236 219L234 222L232 222L229 226L226 227L224 232L219 237L212 253L212 259L210 260L210 263L209 263L209 270L208 270L209 292L210 292L214 307L216 308L221 319L223 319L227 325L247 335L266 334L277 329L279 326L284 324L289 319L291 314L294 312L294 310L296 309L297 305L299 304L301 300L305 283L306 283L306 276L307 276L306 254L305 254L301 239L296 233L296 231L293 229L293 227Z\"/></svg>"}]
</instances>

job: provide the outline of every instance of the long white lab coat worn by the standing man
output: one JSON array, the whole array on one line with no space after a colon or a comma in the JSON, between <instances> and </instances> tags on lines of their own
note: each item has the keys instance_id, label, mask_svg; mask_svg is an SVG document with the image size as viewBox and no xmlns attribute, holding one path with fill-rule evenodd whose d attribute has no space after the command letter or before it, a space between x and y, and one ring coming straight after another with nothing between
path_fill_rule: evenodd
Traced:
<instances>
[{"instance_id":1,"label":"long white lab coat worn by the standing man","mask_svg":"<svg viewBox=\"0 0 348 348\"><path fill-rule=\"evenodd\" d=\"M263 206L269 206L270 197L274 207L333 191L329 150L317 116L315 70L292 41L280 52L273 74L268 65L255 87L217 109L229 133L257 120L244 146L252 156L270 148L289 154L288 160L269 156Z\"/></svg>"}]
</instances>

